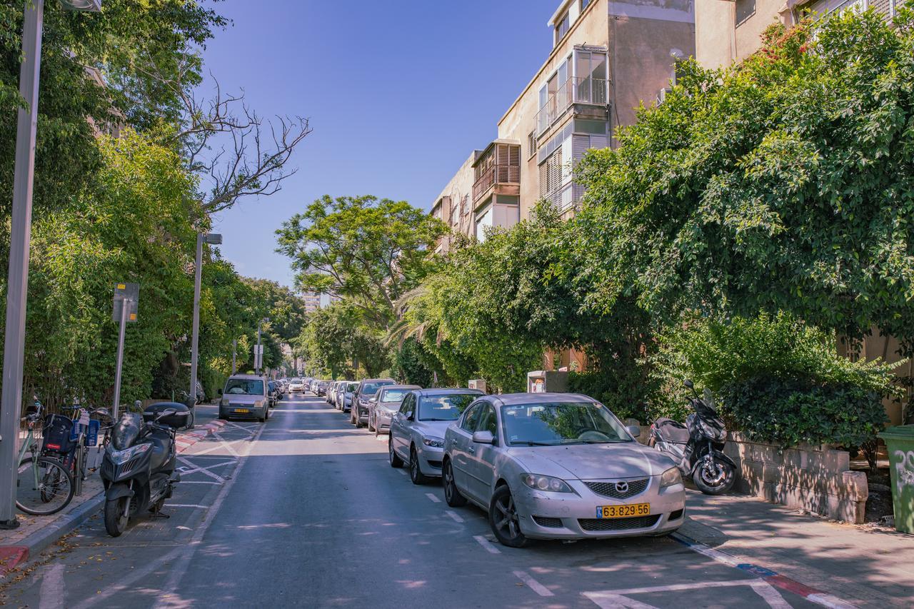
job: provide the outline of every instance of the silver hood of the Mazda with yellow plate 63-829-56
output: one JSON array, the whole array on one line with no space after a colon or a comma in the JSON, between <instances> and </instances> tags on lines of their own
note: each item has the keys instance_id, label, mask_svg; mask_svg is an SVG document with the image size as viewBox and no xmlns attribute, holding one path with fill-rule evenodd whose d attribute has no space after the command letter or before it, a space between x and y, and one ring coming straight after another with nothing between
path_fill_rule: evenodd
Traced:
<instances>
[{"instance_id":1,"label":"silver hood of the Mazda with yellow plate 63-829-56","mask_svg":"<svg viewBox=\"0 0 914 609\"><path fill-rule=\"evenodd\" d=\"M636 442L512 447L511 453L531 474L570 480L661 475L674 465L668 456Z\"/></svg>"}]
</instances>

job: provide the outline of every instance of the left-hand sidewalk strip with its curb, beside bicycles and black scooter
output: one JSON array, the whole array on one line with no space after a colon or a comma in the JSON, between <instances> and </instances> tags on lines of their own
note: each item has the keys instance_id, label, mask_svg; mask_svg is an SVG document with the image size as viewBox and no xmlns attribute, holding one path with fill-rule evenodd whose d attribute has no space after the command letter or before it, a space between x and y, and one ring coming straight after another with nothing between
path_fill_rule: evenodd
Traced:
<instances>
[{"instance_id":1,"label":"left-hand sidewalk strip with its curb, beside bicycles and black scooter","mask_svg":"<svg viewBox=\"0 0 914 609\"><path fill-rule=\"evenodd\" d=\"M177 435L177 452L183 453L210 433L218 432L225 424L213 420L217 409L197 406L197 426L194 430ZM95 449L90 451L89 465L94 465ZM101 458L101 456L97 457ZM82 495L73 497L67 508L50 516L28 516L16 513L20 525L13 530L0 530L0 581L6 573L16 569L29 556L37 556L51 544L91 518L104 505L101 478L91 474L83 483Z\"/></svg>"}]
</instances>

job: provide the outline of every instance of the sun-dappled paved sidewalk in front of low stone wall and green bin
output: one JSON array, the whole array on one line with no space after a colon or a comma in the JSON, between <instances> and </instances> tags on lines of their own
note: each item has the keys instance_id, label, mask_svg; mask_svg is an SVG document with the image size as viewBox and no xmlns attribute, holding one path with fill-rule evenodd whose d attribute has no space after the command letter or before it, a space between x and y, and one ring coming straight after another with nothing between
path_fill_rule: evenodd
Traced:
<instances>
[{"instance_id":1,"label":"sun-dappled paved sidewalk in front of low stone wall and green bin","mask_svg":"<svg viewBox=\"0 0 914 609\"><path fill-rule=\"evenodd\" d=\"M914 606L914 535L830 522L756 497L688 491L679 533L865 607Z\"/></svg>"}]
</instances>

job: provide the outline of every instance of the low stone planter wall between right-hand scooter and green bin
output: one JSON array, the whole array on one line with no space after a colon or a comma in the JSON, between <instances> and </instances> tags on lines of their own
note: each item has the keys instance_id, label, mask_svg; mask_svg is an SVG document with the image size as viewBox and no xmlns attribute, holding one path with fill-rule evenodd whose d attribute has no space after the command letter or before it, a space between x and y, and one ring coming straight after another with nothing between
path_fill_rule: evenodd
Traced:
<instances>
[{"instance_id":1,"label":"low stone planter wall between right-hand scooter and green bin","mask_svg":"<svg viewBox=\"0 0 914 609\"><path fill-rule=\"evenodd\" d=\"M725 453L737 464L735 490L789 508L862 523L869 488L864 472L850 471L850 455L827 446L781 449L731 433Z\"/></svg>"}]
</instances>

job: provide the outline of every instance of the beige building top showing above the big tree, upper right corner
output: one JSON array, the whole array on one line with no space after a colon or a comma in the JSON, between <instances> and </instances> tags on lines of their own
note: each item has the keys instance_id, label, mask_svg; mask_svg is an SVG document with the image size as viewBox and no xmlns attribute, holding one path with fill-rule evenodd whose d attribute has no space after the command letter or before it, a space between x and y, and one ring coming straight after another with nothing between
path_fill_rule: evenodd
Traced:
<instances>
[{"instance_id":1,"label":"beige building top showing above the big tree, upper right corner","mask_svg":"<svg viewBox=\"0 0 914 609\"><path fill-rule=\"evenodd\" d=\"M873 8L887 17L903 0L695 0L696 59L706 68L739 63L759 50L774 22L792 26L804 16Z\"/></svg>"}]
</instances>

